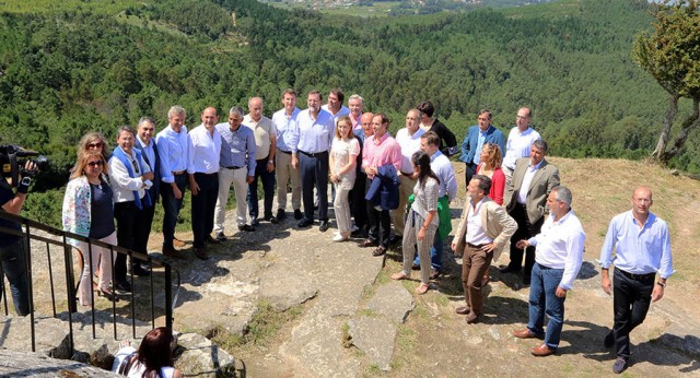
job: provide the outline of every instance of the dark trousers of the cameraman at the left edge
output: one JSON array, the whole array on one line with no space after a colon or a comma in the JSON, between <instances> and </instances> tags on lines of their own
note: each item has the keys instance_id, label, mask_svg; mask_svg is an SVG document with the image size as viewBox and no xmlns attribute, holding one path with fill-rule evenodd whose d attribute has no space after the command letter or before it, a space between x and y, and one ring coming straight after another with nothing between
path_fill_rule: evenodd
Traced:
<instances>
[{"instance_id":1,"label":"dark trousers of the cameraman at the left edge","mask_svg":"<svg viewBox=\"0 0 700 378\"><path fill-rule=\"evenodd\" d=\"M23 317L30 314L30 283L26 274L26 248L24 240L0 247L0 294L4 293L4 280L10 282L12 302L18 315Z\"/></svg>"}]
</instances>

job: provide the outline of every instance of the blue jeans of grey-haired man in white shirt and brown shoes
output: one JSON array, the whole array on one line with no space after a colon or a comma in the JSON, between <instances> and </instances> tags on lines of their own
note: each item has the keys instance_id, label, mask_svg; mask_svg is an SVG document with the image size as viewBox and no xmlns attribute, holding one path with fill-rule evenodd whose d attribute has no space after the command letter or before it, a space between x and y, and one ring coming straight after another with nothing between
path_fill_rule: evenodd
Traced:
<instances>
[{"instance_id":1,"label":"blue jeans of grey-haired man in white shirt and brown shoes","mask_svg":"<svg viewBox=\"0 0 700 378\"><path fill-rule=\"evenodd\" d=\"M542 334L545 314L549 317L545 344L549 349L559 347L561 328L564 323L564 298L557 296L557 287L561 283L563 269L551 269L539 263L533 267L532 282L529 285L529 321L527 329L535 334Z\"/></svg>"}]
</instances>

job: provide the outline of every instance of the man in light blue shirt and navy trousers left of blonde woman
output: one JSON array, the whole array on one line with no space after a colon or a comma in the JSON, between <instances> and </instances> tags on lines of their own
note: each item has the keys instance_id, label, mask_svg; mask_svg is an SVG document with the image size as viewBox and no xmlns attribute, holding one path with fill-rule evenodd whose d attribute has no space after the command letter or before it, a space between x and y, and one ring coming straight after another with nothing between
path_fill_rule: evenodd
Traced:
<instances>
[{"instance_id":1,"label":"man in light blue shirt and navy trousers left of blonde woman","mask_svg":"<svg viewBox=\"0 0 700 378\"><path fill-rule=\"evenodd\" d=\"M299 142L292 152L292 164L299 162L302 178L304 217L299 227L314 223L314 186L318 192L318 229L328 229L328 151L332 143L335 126L330 113L320 108L320 92L308 92L308 108L296 117ZM299 158L299 160L298 160Z\"/></svg>"}]
</instances>

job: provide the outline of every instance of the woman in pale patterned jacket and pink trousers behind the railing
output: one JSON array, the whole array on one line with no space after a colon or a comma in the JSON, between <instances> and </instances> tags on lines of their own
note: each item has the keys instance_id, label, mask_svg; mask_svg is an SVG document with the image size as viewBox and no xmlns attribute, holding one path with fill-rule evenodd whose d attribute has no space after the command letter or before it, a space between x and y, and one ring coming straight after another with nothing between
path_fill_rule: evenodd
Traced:
<instances>
[{"instance_id":1,"label":"woman in pale patterned jacket and pink trousers behind the railing","mask_svg":"<svg viewBox=\"0 0 700 378\"><path fill-rule=\"evenodd\" d=\"M101 152L84 151L78 156L63 197L63 231L116 245L113 191L106 178L107 163ZM83 271L78 293L80 304L92 306L91 273L100 271L97 292L116 300L109 288L116 253L108 248L69 239L83 253ZM98 268L98 269L97 269Z\"/></svg>"}]
</instances>

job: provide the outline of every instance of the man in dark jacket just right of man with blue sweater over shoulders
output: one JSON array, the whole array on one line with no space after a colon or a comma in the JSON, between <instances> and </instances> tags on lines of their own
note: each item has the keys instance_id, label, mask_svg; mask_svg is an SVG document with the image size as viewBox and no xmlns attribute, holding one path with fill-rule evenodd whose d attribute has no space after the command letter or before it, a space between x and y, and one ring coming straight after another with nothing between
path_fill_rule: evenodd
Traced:
<instances>
[{"instance_id":1,"label":"man in dark jacket just right of man with blue sweater over shoulders","mask_svg":"<svg viewBox=\"0 0 700 378\"><path fill-rule=\"evenodd\" d=\"M153 185L149 189L149 196L151 197L151 205L143 206L143 217L139 220L139 226L143 227L143 233L138 233L139 237L133 243L133 249L137 252L148 253L149 235L151 235L151 223L153 223L153 214L155 213L155 204L160 197L161 190L161 164L158 155L158 147L155 146L155 140L153 133L155 132L155 121L151 117L141 117L139 119L139 126L137 129L137 143L136 147L141 150L141 156L145 164L151 167L153 172ZM148 267L135 263L133 273L148 274Z\"/></svg>"}]
</instances>

